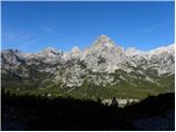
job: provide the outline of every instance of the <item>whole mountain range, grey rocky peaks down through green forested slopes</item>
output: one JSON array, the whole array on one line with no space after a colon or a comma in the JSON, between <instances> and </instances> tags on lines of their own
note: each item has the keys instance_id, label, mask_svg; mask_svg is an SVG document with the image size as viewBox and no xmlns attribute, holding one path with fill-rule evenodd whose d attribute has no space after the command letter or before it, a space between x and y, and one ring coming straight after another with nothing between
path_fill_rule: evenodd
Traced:
<instances>
[{"instance_id":1,"label":"whole mountain range, grey rocky peaks down through green forested slopes","mask_svg":"<svg viewBox=\"0 0 176 132\"><path fill-rule=\"evenodd\" d=\"M19 95L79 99L135 98L174 92L174 44L148 52L123 50L107 35L69 53L1 51L1 86Z\"/></svg>"}]
</instances>

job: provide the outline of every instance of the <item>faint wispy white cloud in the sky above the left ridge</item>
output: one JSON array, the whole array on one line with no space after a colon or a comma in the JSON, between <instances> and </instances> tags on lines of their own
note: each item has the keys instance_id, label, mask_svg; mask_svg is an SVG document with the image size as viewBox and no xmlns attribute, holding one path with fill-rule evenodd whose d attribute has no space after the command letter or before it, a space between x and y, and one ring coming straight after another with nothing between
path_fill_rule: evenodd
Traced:
<instances>
[{"instance_id":1,"label":"faint wispy white cloud in the sky above the left ridge","mask_svg":"<svg viewBox=\"0 0 176 132\"><path fill-rule=\"evenodd\" d=\"M56 28L53 25L38 25L34 31L19 28L4 30L2 32L2 48L14 47L23 51L30 46L35 46L46 35L58 35Z\"/></svg>"}]
</instances>

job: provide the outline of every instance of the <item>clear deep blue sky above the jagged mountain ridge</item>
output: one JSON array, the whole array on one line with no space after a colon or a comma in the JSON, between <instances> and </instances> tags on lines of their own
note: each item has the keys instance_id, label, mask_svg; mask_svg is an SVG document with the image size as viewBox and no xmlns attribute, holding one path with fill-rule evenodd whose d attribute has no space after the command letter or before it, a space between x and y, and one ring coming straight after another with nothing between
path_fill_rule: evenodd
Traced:
<instances>
[{"instance_id":1,"label":"clear deep blue sky above the jagged mountain ridge","mask_svg":"<svg viewBox=\"0 0 176 132\"><path fill-rule=\"evenodd\" d=\"M174 1L2 2L2 48L85 50L101 34L124 48L173 44Z\"/></svg>"}]
</instances>

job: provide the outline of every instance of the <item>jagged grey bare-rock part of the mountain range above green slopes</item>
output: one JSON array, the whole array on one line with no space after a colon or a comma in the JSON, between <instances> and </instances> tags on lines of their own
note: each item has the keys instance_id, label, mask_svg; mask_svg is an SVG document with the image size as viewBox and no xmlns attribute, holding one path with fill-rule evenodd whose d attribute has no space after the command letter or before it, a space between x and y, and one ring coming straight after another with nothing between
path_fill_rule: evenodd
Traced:
<instances>
[{"instance_id":1,"label":"jagged grey bare-rock part of the mountain range above green slopes","mask_svg":"<svg viewBox=\"0 0 176 132\"><path fill-rule=\"evenodd\" d=\"M50 74L47 79L52 78L52 81L62 84L61 87L81 86L85 80L107 86L132 79L143 79L160 85L156 79L163 75L169 77L175 74L174 56L174 45L150 52L135 48L124 51L110 37L100 35L85 51L80 51L77 46L70 53L63 53L52 47L40 53L6 50L1 52L1 62L2 74L8 75L6 77L11 77L9 74L13 74L35 80L37 77L32 76L36 73L40 76L44 75L43 79ZM122 72L116 75L117 70Z\"/></svg>"}]
</instances>

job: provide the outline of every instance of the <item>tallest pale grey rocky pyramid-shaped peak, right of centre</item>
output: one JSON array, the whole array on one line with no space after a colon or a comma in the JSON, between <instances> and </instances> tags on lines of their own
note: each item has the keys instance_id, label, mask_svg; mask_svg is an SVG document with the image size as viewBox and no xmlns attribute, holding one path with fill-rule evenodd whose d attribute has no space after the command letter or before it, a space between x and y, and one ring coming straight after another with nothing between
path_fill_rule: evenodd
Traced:
<instances>
[{"instance_id":1,"label":"tallest pale grey rocky pyramid-shaped peak, right of centre","mask_svg":"<svg viewBox=\"0 0 176 132\"><path fill-rule=\"evenodd\" d=\"M127 56L108 36L99 36L85 56L88 67L97 72L113 73L123 66Z\"/></svg>"}]
</instances>

